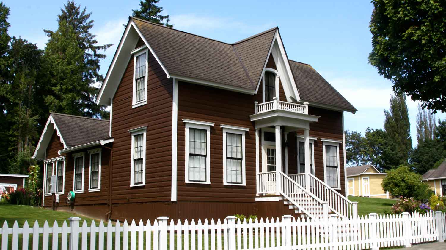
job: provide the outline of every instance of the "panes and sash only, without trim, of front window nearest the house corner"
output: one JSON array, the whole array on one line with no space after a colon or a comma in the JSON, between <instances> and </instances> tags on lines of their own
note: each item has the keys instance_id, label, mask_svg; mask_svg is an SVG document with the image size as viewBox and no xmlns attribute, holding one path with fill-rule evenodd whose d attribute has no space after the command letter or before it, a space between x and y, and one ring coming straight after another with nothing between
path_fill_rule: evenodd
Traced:
<instances>
[{"instance_id":1,"label":"panes and sash only, without trim, of front window nearest the house corner","mask_svg":"<svg viewBox=\"0 0 446 250\"><path fill-rule=\"evenodd\" d=\"M206 182L206 130L189 128L189 181Z\"/></svg>"}]
</instances>

